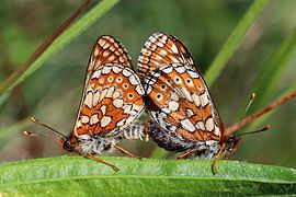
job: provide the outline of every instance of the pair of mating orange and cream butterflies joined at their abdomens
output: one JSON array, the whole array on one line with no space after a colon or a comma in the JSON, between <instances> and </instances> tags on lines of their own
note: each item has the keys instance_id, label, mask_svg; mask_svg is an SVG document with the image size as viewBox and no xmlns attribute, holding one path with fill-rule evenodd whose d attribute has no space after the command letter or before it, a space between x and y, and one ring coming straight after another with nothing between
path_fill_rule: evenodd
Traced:
<instances>
[{"instance_id":1,"label":"pair of mating orange and cream butterflies joined at their abdomens","mask_svg":"<svg viewBox=\"0 0 296 197\"><path fill-rule=\"evenodd\" d=\"M216 162L237 147L238 139L224 136L224 124L205 81L177 37L161 33L150 36L139 56L138 74L123 45L101 36L90 56L70 137L53 129L62 136L62 148L117 170L94 154L116 148L134 157L116 142L144 136L144 126L136 119L145 105L153 118L148 124L149 136L169 151L185 152L180 158L215 157Z\"/></svg>"}]
</instances>

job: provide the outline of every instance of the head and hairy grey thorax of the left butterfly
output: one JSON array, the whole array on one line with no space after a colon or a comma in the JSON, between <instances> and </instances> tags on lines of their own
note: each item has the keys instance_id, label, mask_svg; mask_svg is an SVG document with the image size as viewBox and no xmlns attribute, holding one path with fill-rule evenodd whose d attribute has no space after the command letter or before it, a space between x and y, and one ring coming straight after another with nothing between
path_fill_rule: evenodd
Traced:
<instances>
[{"instance_id":1,"label":"head and hairy grey thorax of the left butterfly","mask_svg":"<svg viewBox=\"0 0 296 197\"><path fill-rule=\"evenodd\" d=\"M69 152L77 152L82 155L101 154L102 151L109 150L113 138L101 138L99 136L78 135L60 140L61 147Z\"/></svg>"}]
</instances>

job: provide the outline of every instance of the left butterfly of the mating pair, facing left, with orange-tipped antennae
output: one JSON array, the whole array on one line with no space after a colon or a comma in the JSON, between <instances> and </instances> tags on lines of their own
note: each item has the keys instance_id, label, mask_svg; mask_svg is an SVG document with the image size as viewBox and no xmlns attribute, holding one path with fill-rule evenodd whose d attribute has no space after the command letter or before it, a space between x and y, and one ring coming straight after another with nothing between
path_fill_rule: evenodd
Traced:
<instances>
[{"instance_id":1,"label":"left butterfly of the mating pair, facing left, with orange-tipped antennae","mask_svg":"<svg viewBox=\"0 0 296 197\"><path fill-rule=\"evenodd\" d=\"M114 37L101 36L92 48L80 106L72 132L62 136L61 147L118 170L95 157L112 148L134 157L117 146L123 138L141 138L143 126L136 119L144 109L144 88L133 70L124 46ZM38 125L37 119L32 119ZM25 131L26 136L36 136Z\"/></svg>"}]
</instances>

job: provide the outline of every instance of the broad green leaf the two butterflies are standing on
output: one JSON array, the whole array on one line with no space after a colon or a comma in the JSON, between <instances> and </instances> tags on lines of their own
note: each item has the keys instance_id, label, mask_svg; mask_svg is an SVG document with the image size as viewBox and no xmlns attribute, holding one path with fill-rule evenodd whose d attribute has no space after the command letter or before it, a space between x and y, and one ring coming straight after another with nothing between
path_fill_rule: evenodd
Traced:
<instances>
[{"instance_id":1,"label":"broad green leaf the two butterflies are standing on","mask_svg":"<svg viewBox=\"0 0 296 197\"><path fill-rule=\"evenodd\" d=\"M121 170L82 157L0 164L2 195L150 196L296 194L293 169L219 161L218 174L206 160L104 158Z\"/></svg>"}]
</instances>

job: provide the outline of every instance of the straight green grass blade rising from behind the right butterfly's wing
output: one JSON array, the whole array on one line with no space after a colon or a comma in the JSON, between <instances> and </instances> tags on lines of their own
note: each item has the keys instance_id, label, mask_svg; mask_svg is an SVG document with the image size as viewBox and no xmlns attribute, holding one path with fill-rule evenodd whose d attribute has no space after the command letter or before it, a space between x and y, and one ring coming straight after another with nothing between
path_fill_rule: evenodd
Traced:
<instances>
[{"instance_id":1,"label":"straight green grass blade rising from behind the right butterfly's wing","mask_svg":"<svg viewBox=\"0 0 296 197\"><path fill-rule=\"evenodd\" d=\"M226 63L239 47L244 35L269 2L270 0L253 1L249 10L246 12L244 16L240 20L236 28L224 43L218 55L207 69L205 73L205 80L208 86L210 86L220 76L223 69L226 67Z\"/></svg>"}]
</instances>

